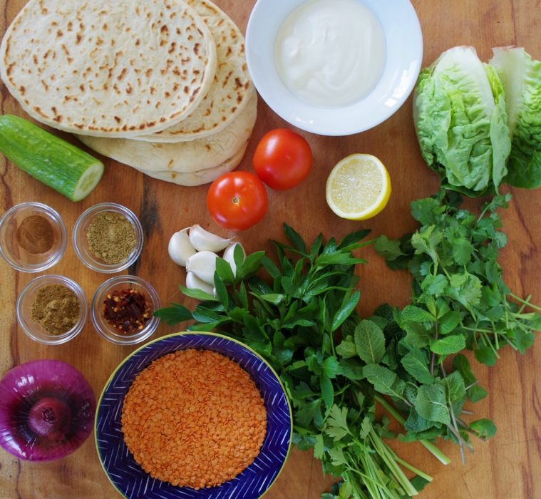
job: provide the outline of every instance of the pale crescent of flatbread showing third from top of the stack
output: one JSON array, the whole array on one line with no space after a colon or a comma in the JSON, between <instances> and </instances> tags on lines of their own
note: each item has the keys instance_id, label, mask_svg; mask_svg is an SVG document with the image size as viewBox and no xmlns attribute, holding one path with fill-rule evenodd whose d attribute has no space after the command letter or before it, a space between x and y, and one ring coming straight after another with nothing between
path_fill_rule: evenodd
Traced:
<instances>
[{"instance_id":1,"label":"pale crescent of flatbread showing third from top of the stack","mask_svg":"<svg viewBox=\"0 0 541 499\"><path fill-rule=\"evenodd\" d=\"M215 168L230 159L252 135L256 117L254 91L242 113L225 130L209 137L170 144L88 135L78 138L97 153L138 170L193 173Z\"/></svg>"}]
</instances>

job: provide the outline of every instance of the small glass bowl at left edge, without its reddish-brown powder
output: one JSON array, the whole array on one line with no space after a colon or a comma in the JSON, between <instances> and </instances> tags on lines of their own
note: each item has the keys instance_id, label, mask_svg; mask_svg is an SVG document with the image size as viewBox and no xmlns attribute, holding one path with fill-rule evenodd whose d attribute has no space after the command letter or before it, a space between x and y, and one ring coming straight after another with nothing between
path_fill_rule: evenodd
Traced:
<instances>
[{"instance_id":1,"label":"small glass bowl at left edge, without its reddish-brown powder","mask_svg":"<svg viewBox=\"0 0 541 499\"><path fill-rule=\"evenodd\" d=\"M23 220L40 215L51 223L53 245L44 253L31 253L17 242L17 230ZM21 272L41 272L57 264L66 251L68 233L60 215L41 202L22 202L10 208L0 220L0 254L11 267Z\"/></svg>"}]
</instances>

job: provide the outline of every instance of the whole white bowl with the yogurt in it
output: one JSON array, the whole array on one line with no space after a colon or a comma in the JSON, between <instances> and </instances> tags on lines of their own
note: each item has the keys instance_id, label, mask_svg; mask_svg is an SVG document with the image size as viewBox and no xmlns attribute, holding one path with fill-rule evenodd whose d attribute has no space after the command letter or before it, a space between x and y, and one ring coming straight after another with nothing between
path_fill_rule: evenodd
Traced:
<instances>
[{"instance_id":1,"label":"whole white bowl with the yogurt in it","mask_svg":"<svg viewBox=\"0 0 541 499\"><path fill-rule=\"evenodd\" d=\"M393 115L423 58L408 0L258 0L246 44L264 101L321 135L359 133Z\"/></svg>"}]
</instances>

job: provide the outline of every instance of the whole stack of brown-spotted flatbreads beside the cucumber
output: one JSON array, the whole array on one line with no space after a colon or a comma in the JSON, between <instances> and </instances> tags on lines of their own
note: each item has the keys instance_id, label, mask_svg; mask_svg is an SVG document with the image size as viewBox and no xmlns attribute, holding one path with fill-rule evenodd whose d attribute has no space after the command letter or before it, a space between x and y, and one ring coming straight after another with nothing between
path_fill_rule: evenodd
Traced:
<instances>
[{"instance_id":1,"label":"whole stack of brown-spotted flatbreads beside the cucumber","mask_svg":"<svg viewBox=\"0 0 541 499\"><path fill-rule=\"evenodd\" d=\"M30 0L0 74L36 120L180 185L235 169L257 115L244 37L210 0Z\"/></svg>"}]
</instances>

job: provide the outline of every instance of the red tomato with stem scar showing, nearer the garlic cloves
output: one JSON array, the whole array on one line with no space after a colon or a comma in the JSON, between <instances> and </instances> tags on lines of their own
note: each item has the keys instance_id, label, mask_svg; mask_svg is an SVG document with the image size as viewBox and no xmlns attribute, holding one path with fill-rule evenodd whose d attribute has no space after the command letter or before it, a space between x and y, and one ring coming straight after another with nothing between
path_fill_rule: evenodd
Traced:
<instances>
[{"instance_id":1,"label":"red tomato with stem scar showing, nearer the garlic cloves","mask_svg":"<svg viewBox=\"0 0 541 499\"><path fill-rule=\"evenodd\" d=\"M226 173L207 193L210 215L226 229L249 229L263 218L268 204L263 182L249 172Z\"/></svg>"}]
</instances>

